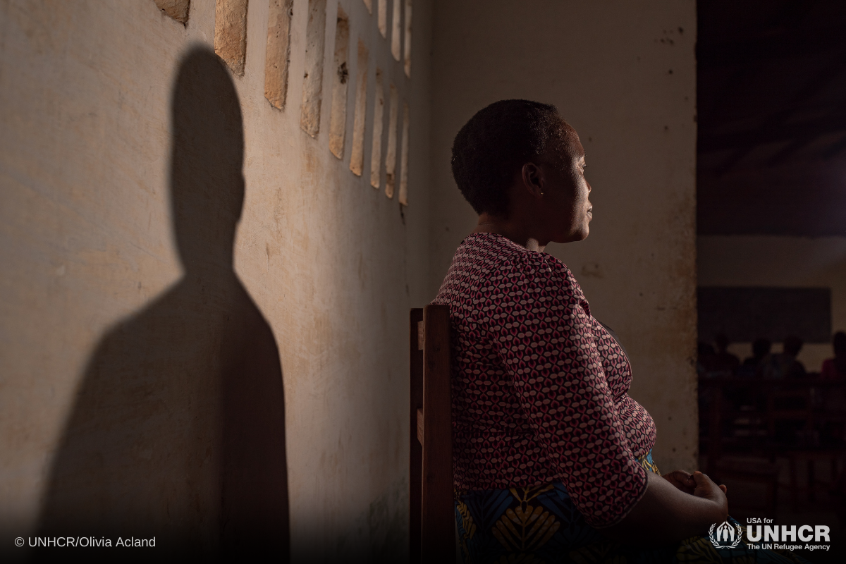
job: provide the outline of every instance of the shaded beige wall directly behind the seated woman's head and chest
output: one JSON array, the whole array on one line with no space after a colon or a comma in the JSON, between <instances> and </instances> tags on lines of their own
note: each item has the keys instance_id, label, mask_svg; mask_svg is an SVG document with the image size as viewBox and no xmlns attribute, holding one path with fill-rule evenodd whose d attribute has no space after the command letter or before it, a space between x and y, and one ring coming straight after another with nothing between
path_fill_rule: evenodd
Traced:
<instances>
[{"instance_id":1,"label":"shaded beige wall directly behind the seated woman's head and chest","mask_svg":"<svg viewBox=\"0 0 846 564\"><path fill-rule=\"evenodd\" d=\"M662 470L693 469L697 450L695 14L692 0L442 0L433 32L431 293L476 221L453 136L493 101L555 104L585 145L594 219L547 251L628 349Z\"/></svg>"}]
</instances>

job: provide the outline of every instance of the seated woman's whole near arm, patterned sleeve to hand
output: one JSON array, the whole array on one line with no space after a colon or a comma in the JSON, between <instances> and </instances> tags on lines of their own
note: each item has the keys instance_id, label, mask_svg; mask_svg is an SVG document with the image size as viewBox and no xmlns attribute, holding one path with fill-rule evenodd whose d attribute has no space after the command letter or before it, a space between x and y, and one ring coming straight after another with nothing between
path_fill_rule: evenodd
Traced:
<instances>
[{"instance_id":1,"label":"seated woman's whole near arm, patterned sleeve to hand","mask_svg":"<svg viewBox=\"0 0 846 564\"><path fill-rule=\"evenodd\" d=\"M486 309L482 321L539 443L536 459L514 468L515 478L533 463L545 465L585 522L614 538L660 543L722 522L726 511L716 517L725 496L719 488L719 496L711 492L710 480L699 478L700 496L685 494L634 457L589 306L566 267L527 256L503 278L511 292L494 296L497 307Z\"/></svg>"}]
</instances>

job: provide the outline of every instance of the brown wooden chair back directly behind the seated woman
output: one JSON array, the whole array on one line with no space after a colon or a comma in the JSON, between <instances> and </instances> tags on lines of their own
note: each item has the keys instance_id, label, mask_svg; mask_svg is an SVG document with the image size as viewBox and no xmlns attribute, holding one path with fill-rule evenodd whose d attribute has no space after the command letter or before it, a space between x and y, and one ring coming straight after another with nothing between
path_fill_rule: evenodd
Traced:
<instances>
[{"instance_id":1,"label":"brown wooden chair back directly behind the seated woman","mask_svg":"<svg viewBox=\"0 0 846 564\"><path fill-rule=\"evenodd\" d=\"M455 561L449 307L411 310L410 561Z\"/></svg>"}]
</instances>

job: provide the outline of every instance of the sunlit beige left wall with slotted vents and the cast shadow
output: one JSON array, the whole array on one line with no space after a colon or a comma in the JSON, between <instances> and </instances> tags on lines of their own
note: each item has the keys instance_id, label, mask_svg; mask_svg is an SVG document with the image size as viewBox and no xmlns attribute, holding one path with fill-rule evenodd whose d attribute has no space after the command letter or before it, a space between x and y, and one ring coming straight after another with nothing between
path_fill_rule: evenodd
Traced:
<instances>
[{"instance_id":1,"label":"sunlit beige left wall with slotted vents and the cast shadow","mask_svg":"<svg viewBox=\"0 0 846 564\"><path fill-rule=\"evenodd\" d=\"M294 556L404 550L430 7L415 0L408 79L376 14L340 3L349 52L370 53L360 177L354 87L343 159L329 151L336 0L315 138L308 0L281 111L264 96L267 1L249 3L239 77L210 54L212 0L186 25L153 0L0 0L0 550L73 530L214 551L288 514ZM377 66L410 107L404 208L384 172L370 185ZM280 530L263 541L284 546Z\"/></svg>"}]
</instances>

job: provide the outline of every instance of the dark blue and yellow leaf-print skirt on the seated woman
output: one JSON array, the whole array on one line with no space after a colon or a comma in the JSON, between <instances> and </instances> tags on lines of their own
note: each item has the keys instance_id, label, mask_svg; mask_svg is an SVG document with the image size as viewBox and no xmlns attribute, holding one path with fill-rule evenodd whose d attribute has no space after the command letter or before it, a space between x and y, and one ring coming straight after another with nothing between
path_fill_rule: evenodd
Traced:
<instances>
[{"instance_id":1,"label":"dark blue and yellow leaf-print skirt on the seated woman","mask_svg":"<svg viewBox=\"0 0 846 564\"><path fill-rule=\"evenodd\" d=\"M646 470L661 474L652 462L652 452L638 460ZM455 519L467 564L807 562L787 550L753 550L744 542L733 549L717 549L707 537L691 537L678 545L654 549L621 545L585 523L561 482L533 488L457 492ZM733 519L729 522L738 525Z\"/></svg>"}]
</instances>

